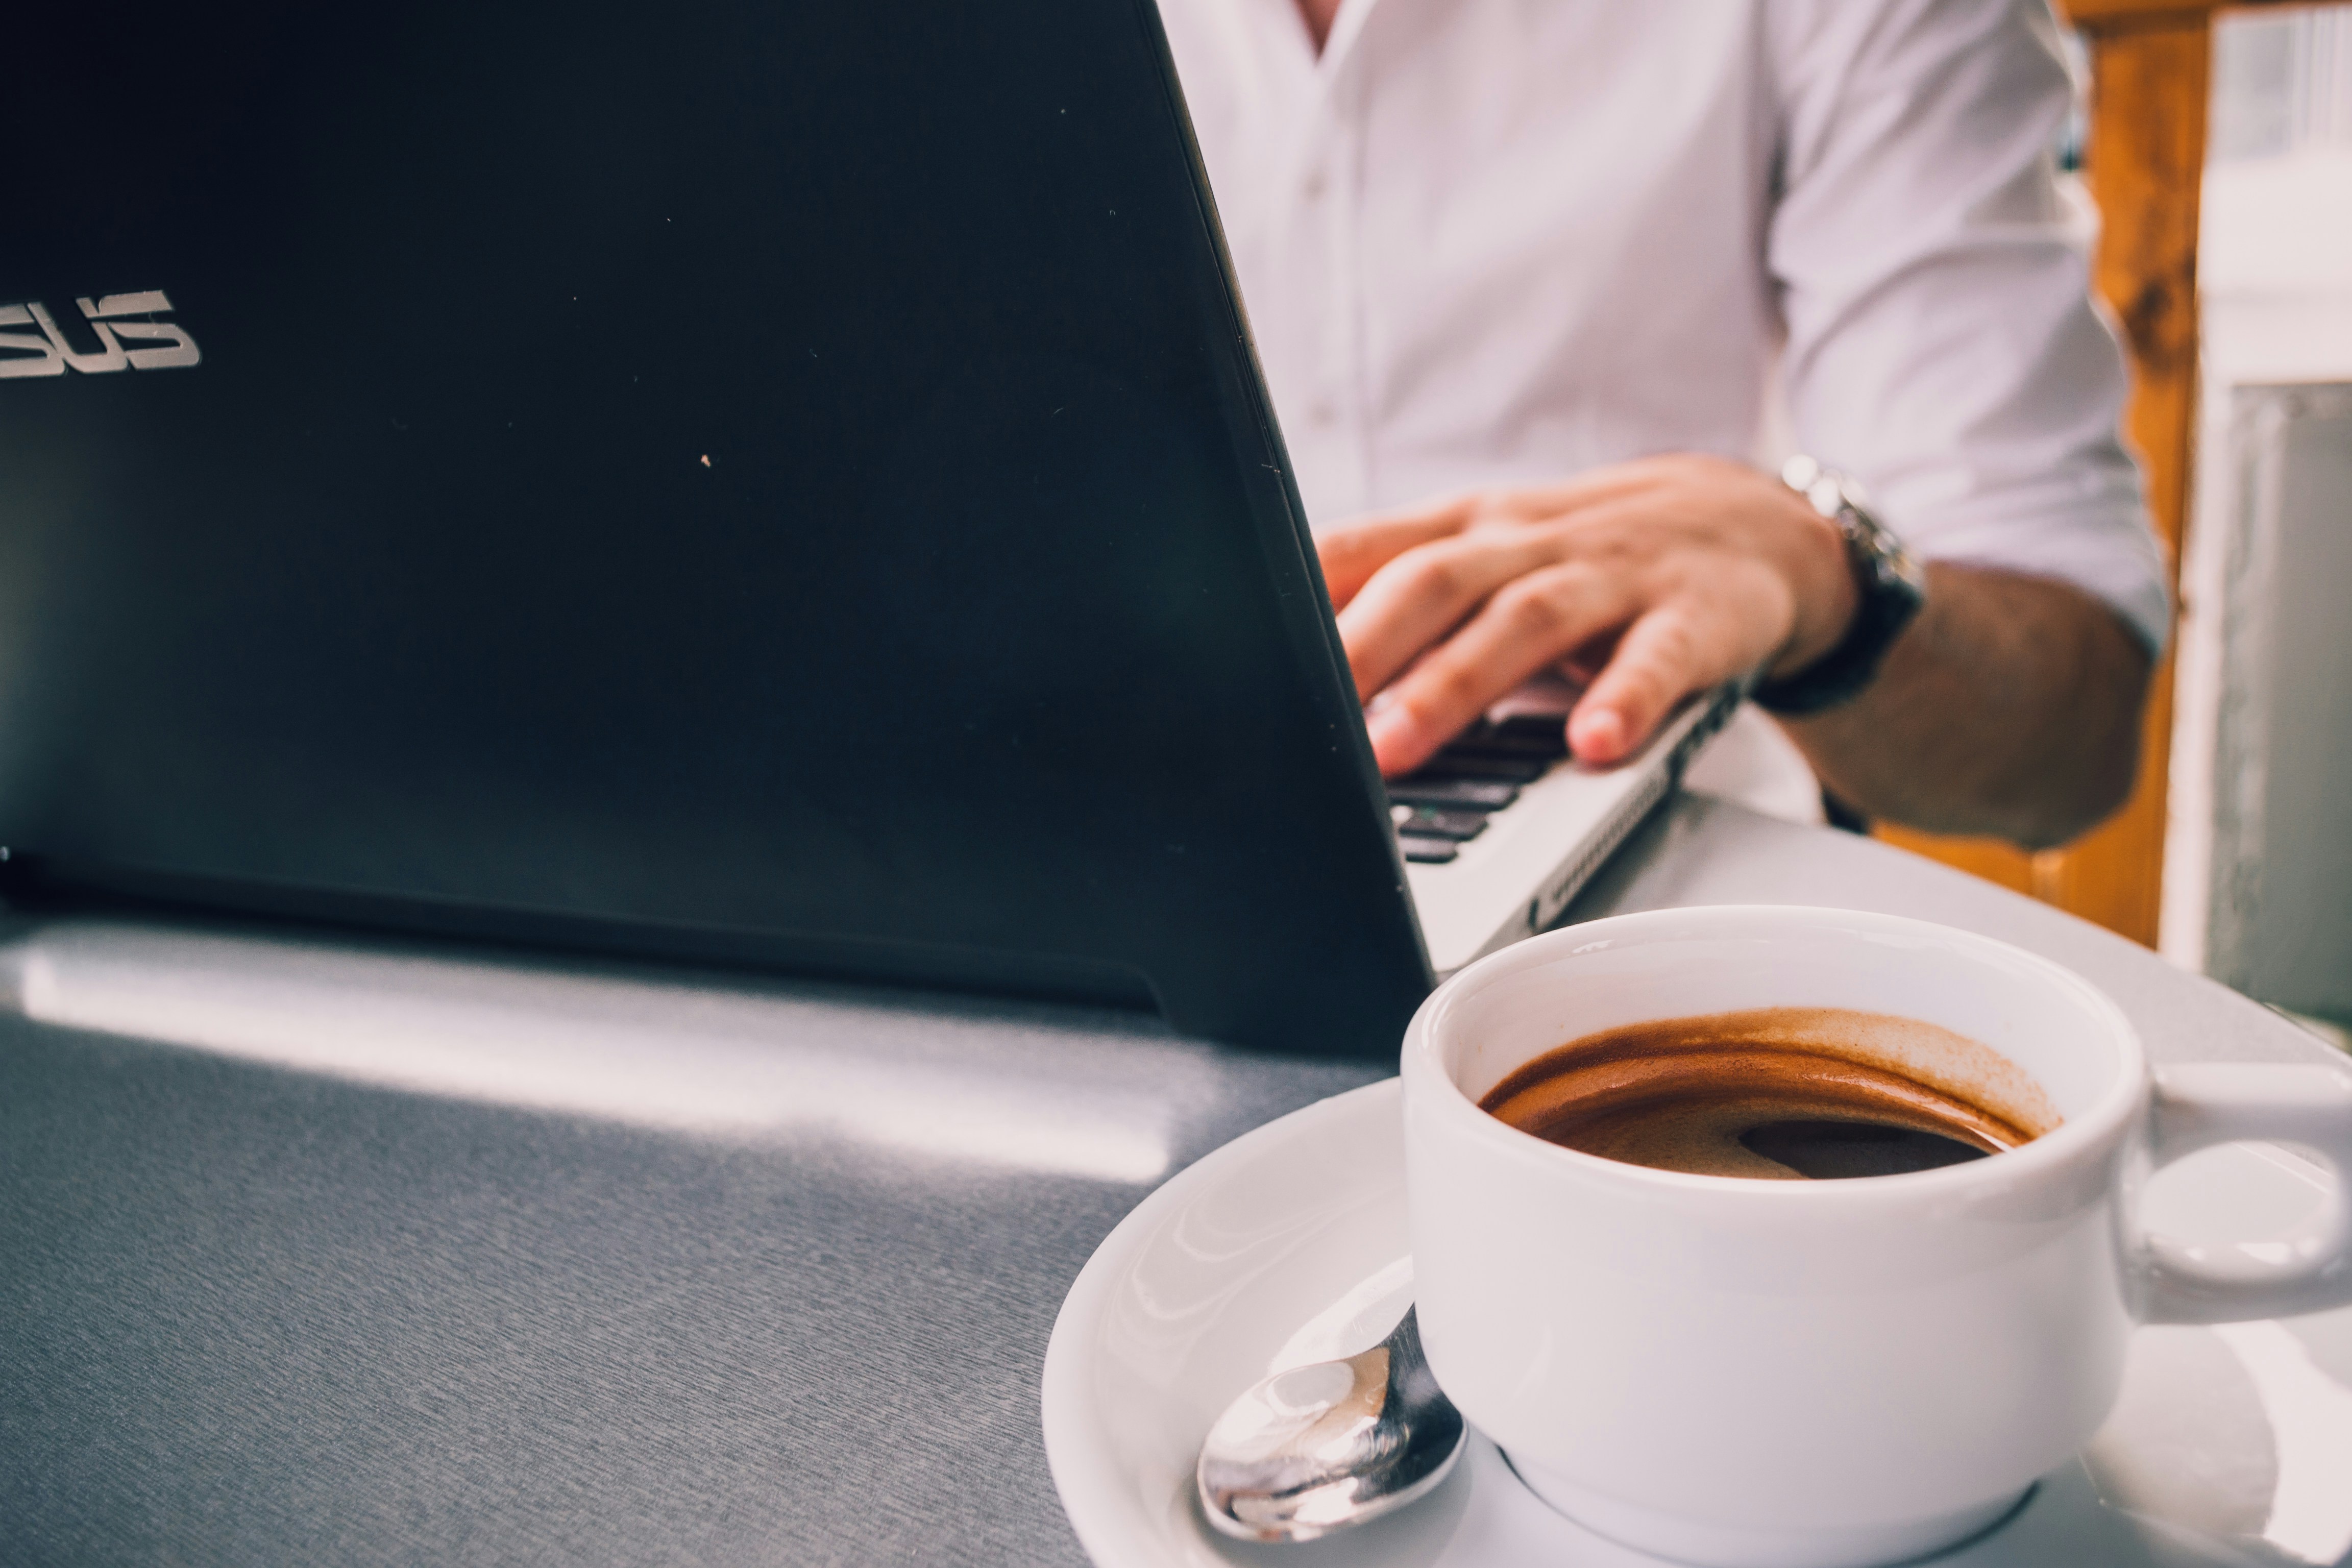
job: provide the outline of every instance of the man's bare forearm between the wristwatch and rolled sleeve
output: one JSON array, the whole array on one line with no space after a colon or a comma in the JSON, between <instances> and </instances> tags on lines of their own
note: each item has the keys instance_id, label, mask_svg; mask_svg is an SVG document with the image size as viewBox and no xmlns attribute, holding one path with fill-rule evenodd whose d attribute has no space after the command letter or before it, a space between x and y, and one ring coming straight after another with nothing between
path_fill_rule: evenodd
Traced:
<instances>
[{"instance_id":1,"label":"man's bare forearm between the wristwatch and rolled sleeve","mask_svg":"<svg viewBox=\"0 0 2352 1568\"><path fill-rule=\"evenodd\" d=\"M1877 682L1785 729L1870 816L2042 849L2124 804L2147 672L2140 642L2082 590L1936 564Z\"/></svg>"}]
</instances>

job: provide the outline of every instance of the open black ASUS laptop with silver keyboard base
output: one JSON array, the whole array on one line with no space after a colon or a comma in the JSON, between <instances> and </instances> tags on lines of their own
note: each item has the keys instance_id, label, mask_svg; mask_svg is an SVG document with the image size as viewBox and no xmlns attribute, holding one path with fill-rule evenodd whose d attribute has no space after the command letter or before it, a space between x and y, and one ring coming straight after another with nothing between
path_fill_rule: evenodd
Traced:
<instances>
[{"instance_id":1,"label":"open black ASUS laptop with silver keyboard base","mask_svg":"<svg viewBox=\"0 0 2352 1568\"><path fill-rule=\"evenodd\" d=\"M1150 0L14 26L19 905L1381 1058L1729 710L1383 785Z\"/></svg>"}]
</instances>

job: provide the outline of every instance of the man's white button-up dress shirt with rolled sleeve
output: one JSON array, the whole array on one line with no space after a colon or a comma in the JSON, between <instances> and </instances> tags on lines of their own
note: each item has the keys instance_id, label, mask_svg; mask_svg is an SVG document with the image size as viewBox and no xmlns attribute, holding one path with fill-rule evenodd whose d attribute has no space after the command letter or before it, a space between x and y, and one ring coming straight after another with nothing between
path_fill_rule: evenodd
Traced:
<instances>
[{"instance_id":1,"label":"man's white button-up dress shirt with rolled sleeve","mask_svg":"<svg viewBox=\"0 0 2352 1568\"><path fill-rule=\"evenodd\" d=\"M1651 451L1863 480L2152 646L2046 0L1160 0L1308 517Z\"/></svg>"}]
</instances>

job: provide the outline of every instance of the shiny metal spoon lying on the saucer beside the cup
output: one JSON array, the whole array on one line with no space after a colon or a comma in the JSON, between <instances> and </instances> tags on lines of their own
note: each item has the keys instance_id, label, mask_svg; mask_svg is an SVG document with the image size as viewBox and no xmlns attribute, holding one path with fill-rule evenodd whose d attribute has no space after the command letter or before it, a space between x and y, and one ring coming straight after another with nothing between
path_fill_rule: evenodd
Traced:
<instances>
[{"instance_id":1,"label":"shiny metal spoon lying on the saucer beside the cup","mask_svg":"<svg viewBox=\"0 0 2352 1568\"><path fill-rule=\"evenodd\" d=\"M1359 1356L1265 1378L1200 1446L1200 1505L1242 1540L1315 1540L1423 1497L1463 1450L1463 1418L1406 1309Z\"/></svg>"}]
</instances>

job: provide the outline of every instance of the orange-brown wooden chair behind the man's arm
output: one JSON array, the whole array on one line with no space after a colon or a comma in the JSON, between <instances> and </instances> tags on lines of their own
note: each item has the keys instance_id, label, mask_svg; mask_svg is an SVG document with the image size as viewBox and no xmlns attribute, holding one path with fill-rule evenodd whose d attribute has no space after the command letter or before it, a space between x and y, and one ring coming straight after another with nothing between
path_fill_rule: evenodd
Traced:
<instances>
[{"instance_id":1,"label":"orange-brown wooden chair behind the man's arm","mask_svg":"<svg viewBox=\"0 0 2352 1568\"><path fill-rule=\"evenodd\" d=\"M2263 2L2263 0L2251 0ZM2091 282L2124 334L2124 435L2147 475L2147 510L2180 581L2197 433L2197 200L2216 0L2058 0L2091 45L2084 174L2100 212ZM2065 849L1900 827L1879 837L2154 945L2164 879L2164 785L2173 750L2173 663L2157 668L2140 778L2119 816Z\"/></svg>"}]
</instances>

